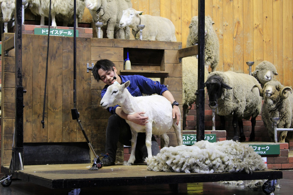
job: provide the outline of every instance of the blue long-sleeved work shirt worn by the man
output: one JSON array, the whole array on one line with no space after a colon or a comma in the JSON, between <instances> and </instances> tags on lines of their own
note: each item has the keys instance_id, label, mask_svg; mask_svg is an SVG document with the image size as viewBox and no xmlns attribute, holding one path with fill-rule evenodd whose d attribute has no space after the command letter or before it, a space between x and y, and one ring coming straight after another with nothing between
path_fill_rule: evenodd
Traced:
<instances>
[{"instance_id":1,"label":"blue long-sleeved work shirt worn by the man","mask_svg":"<svg viewBox=\"0 0 293 195\"><path fill-rule=\"evenodd\" d=\"M130 81L130 85L127 87L130 94L134 97L142 96L142 94L159 94L162 95L162 93L166 90L168 90L166 85L161 85L159 81L153 81L149 78L146 78L141 75L118 75L121 78L122 84L126 81ZM106 90L109 85L105 85L101 92L101 98L106 93ZM107 110L111 114L116 114L115 110L119 105L116 105L114 107L108 107Z\"/></svg>"}]
</instances>

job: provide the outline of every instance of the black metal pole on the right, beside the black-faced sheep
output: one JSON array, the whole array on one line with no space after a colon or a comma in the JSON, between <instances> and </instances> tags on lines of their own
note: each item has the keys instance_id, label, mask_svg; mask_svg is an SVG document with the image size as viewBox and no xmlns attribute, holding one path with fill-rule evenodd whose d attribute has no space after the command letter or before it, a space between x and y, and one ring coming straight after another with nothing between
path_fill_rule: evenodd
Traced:
<instances>
[{"instance_id":1,"label":"black metal pole on the right, beside the black-faced sheep","mask_svg":"<svg viewBox=\"0 0 293 195\"><path fill-rule=\"evenodd\" d=\"M198 78L196 140L205 139L205 0L198 0Z\"/></svg>"}]
</instances>

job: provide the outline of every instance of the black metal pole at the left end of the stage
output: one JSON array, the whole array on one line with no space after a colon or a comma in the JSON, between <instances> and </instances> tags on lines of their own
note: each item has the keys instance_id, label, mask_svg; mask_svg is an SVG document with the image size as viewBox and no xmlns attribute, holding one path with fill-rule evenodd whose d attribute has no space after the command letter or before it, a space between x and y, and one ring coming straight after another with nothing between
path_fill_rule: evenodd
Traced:
<instances>
[{"instance_id":1,"label":"black metal pole at the left end of the stage","mask_svg":"<svg viewBox=\"0 0 293 195\"><path fill-rule=\"evenodd\" d=\"M23 86L22 86L22 0L16 0L15 14L15 136L13 170L23 165ZM19 158L21 156L21 161Z\"/></svg>"}]
</instances>

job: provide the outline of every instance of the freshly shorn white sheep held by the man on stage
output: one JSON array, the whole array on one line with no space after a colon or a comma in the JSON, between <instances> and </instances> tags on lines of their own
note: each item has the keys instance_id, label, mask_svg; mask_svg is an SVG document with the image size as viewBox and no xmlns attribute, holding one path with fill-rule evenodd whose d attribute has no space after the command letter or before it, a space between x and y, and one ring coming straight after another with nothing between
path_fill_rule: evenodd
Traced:
<instances>
[{"instance_id":1,"label":"freshly shorn white sheep held by the man on stage","mask_svg":"<svg viewBox=\"0 0 293 195\"><path fill-rule=\"evenodd\" d=\"M139 96L133 97L128 91L127 87L130 85L130 81L127 81L120 85L118 82L114 82L107 88L105 95L103 96L100 104L103 108L110 106L120 105L122 110L126 114L134 114L136 112L145 112L145 116L148 116L148 123L145 126L135 124L126 120L129 124L132 139L131 139L131 154L127 162L128 165L133 165L135 160L135 146L138 132L146 133L146 146L148 157L152 156L151 153L151 136L160 135L164 147L168 146L169 137L168 132L173 126L178 145L182 145L182 136L180 133L180 122L176 125L177 119L172 117L172 105L165 97L161 95Z\"/></svg>"}]
</instances>

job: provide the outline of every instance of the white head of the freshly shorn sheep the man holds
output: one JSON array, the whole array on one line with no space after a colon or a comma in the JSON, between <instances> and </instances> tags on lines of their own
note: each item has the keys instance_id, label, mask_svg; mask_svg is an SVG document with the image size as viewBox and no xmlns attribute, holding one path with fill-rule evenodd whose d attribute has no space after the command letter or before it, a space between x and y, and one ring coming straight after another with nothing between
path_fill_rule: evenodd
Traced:
<instances>
[{"instance_id":1,"label":"white head of the freshly shorn sheep the man holds","mask_svg":"<svg viewBox=\"0 0 293 195\"><path fill-rule=\"evenodd\" d=\"M110 85L100 102L102 108L108 108L118 105L122 100L124 100L125 97L122 93L123 90L127 90L126 88L129 85L130 81L126 81L121 85L117 81L115 81L112 85Z\"/></svg>"}]
</instances>

